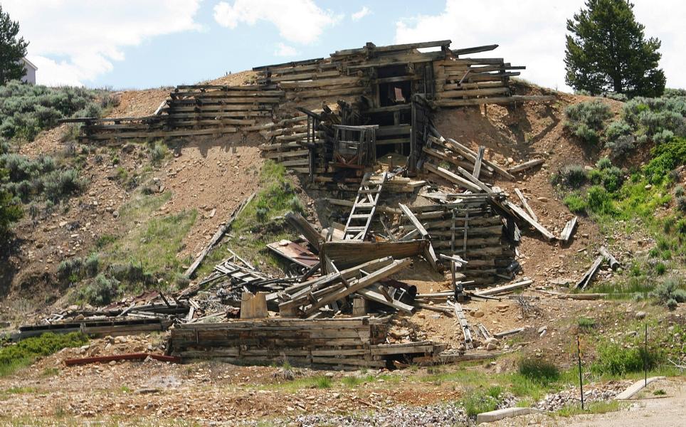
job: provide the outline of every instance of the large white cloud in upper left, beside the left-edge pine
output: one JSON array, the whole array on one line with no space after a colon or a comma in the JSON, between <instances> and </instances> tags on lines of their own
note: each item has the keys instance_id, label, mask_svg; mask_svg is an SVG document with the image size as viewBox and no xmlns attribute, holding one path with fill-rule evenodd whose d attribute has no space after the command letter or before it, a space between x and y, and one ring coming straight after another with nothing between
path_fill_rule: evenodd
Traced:
<instances>
[{"instance_id":1,"label":"large white cloud in upper left, beside the left-edge pine","mask_svg":"<svg viewBox=\"0 0 686 427\"><path fill-rule=\"evenodd\" d=\"M199 1L6 0L3 9L31 42L27 57L38 67L38 83L82 85L112 70L124 59L123 48L199 30Z\"/></svg>"}]
</instances>

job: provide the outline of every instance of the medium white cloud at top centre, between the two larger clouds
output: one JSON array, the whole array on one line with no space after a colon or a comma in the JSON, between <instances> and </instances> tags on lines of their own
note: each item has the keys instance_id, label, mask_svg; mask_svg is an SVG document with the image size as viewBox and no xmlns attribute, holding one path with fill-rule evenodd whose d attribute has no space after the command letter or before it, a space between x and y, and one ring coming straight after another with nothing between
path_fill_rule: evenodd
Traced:
<instances>
[{"instance_id":1,"label":"medium white cloud at top centre, between the two larger clouds","mask_svg":"<svg viewBox=\"0 0 686 427\"><path fill-rule=\"evenodd\" d=\"M221 26L236 28L239 23L255 25L268 21L278 28L280 35L292 43L310 44L334 26L341 16L324 11L312 0L236 0L220 1L214 6L214 20Z\"/></svg>"}]
</instances>

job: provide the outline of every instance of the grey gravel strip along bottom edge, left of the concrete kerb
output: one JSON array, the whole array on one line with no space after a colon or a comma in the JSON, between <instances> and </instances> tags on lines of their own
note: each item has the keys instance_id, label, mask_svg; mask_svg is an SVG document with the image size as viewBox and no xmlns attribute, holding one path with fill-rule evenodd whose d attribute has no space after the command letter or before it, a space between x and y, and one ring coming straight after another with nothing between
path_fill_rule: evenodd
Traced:
<instances>
[{"instance_id":1,"label":"grey gravel strip along bottom edge, left of the concrete kerb","mask_svg":"<svg viewBox=\"0 0 686 427\"><path fill-rule=\"evenodd\" d=\"M257 427L259 421L248 421L244 426ZM280 427L443 427L468 426L468 417L462 408L443 404L431 406L392 406L358 415L306 414L294 418L273 420Z\"/></svg>"}]
</instances>

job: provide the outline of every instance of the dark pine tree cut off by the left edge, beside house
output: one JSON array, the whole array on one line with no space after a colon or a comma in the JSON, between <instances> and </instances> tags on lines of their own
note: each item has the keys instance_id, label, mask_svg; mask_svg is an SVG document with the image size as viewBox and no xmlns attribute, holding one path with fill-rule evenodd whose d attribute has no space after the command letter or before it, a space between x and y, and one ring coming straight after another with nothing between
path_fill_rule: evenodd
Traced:
<instances>
[{"instance_id":1,"label":"dark pine tree cut off by the left edge, beside house","mask_svg":"<svg viewBox=\"0 0 686 427\"><path fill-rule=\"evenodd\" d=\"M24 74L24 63L28 42L19 34L19 22L12 21L0 5L0 85L19 79Z\"/></svg>"}]
</instances>

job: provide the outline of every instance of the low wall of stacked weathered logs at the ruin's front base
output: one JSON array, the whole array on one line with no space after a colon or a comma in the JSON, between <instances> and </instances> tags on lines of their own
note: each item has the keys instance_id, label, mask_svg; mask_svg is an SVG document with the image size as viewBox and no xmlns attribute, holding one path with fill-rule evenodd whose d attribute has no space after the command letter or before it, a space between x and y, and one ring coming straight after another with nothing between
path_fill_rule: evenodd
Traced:
<instances>
[{"instance_id":1,"label":"low wall of stacked weathered logs at the ruin's front base","mask_svg":"<svg viewBox=\"0 0 686 427\"><path fill-rule=\"evenodd\" d=\"M268 319L179 325L171 347L184 359L233 363L280 363L357 369L383 368L402 356L433 357L445 346L433 342L386 344L389 317L331 320Z\"/></svg>"}]
</instances>

